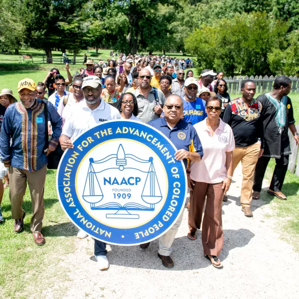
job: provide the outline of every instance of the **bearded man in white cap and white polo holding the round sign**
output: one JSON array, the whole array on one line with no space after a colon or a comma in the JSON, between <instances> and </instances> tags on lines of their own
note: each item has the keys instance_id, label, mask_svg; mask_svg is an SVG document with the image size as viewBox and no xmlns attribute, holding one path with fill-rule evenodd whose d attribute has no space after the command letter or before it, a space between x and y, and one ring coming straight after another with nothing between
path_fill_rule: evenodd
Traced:
<instances>
[{"instance_id":1,"label":"bearded man in white cap and white polo holding the round sign","mask_svg":"<svg viewBox=\"0 0 299 299\"><path fill-rule=\"evenodd\" d=\"M85 100L72 107L62 128L59 141L63 151L72 148L74 139L99 123L121 118L118 109L101 99L102 81L97 76L84 78L82 89ZM77 237L84 239L87 235L80 230ZM109 268L106 254L106 243L94 240L94 255L100 270Z\"/></svg>"}]
</instances>

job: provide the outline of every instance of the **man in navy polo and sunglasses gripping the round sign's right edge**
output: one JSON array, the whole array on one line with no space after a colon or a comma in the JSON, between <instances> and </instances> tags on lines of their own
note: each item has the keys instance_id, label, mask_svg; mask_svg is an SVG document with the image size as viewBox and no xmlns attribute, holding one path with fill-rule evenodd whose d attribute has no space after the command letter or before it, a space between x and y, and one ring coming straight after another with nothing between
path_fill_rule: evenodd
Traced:
<instances>
[{"instance_id":1,"label":"man in navy polo and sunglasses gripping the round sign's right edge","mask_svg":"<svg viewBox=\"0 0 299 299\"><path fill-rule=\"evenodd\" d=\"M199 162L203 157L203 148L194 127L181 119L183 114L182 99L176 94L170 95L166 99L163 110L164 117L151 121L148 125L159 130L172 141L177 148L175 159L183 161L186 168L189 161ZM167 268L174 266L173 260L170 257L171 245L182 217L183 213L181 213L174 226L159 238L158 256L162 259L163 266ZM140 247L145 249L148 245L149 242L141 244Z\"/></svg>"}]
</instances>

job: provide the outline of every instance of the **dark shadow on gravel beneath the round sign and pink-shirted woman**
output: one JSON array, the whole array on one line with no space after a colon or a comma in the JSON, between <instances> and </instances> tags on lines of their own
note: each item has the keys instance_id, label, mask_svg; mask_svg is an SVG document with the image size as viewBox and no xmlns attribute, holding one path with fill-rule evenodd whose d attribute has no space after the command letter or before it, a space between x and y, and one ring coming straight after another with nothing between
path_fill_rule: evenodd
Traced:
<instances>
[{"instance_id":1,"label":"dark shadow on gravel beneath the round sign and pink-shirted woman","mask_svg":"<svg viewBox=\"0 0 299 299\"><path fill-rule=\"evenodd\" d=\"M224 244L220 253L220 260L225 260L230 250L236 247L246 246L254 237L254 234L246 229L224 230ZM166 270L157 256L159 241L155 240L146 249L139 246L115 246L110 245L108 259L111 265L118 265L131 268ZM204 257L201 242L201 231L197 232L195 241L189 240L186 236L174 239L171 257L174 261L172 271L196 270L210 267L211 263ZM132 258L133 257L133 258ZM95 260L94 256L90 257ZM212 267L212 266L211 266Z\"/></svg>"}]
</instances>

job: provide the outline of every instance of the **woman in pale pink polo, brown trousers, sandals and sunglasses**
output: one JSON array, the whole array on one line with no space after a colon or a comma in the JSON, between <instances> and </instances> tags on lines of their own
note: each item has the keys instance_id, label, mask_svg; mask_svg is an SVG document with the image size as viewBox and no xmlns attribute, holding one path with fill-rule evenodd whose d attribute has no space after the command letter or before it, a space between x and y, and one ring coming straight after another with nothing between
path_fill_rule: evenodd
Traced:
<instances>
[{"instance_id":1,"label":"woman in pale pink polo, brown trousers, sandals and sunglasses","mask_svg":"<svg viewBox=\"0 0 299 299\"><path fill-rule=\"evenodd\" d=\"M202 223L204 255L216 268L222 267L219 256L223 246L222 199L230 188L233 174L235 139L232 129L219 118L222 102L216 96L206 101L207 118L194 125L204 149L200 162L191 164L188 238L196 239ZM206 202L205 213L203 216ZM202 219L203 218L203 219Z\"/></svg>"}]
</instances>

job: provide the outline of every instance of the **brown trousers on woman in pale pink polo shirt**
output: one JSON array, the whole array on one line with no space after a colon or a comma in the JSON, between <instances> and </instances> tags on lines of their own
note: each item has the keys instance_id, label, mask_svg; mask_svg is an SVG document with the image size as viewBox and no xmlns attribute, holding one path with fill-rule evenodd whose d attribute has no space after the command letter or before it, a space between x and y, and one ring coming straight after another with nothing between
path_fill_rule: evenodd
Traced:
<instances>
[{"instance_id":1,"label":"brown trousers on woman in pale pink polo shirt","mask_svg":"<svg viewBox=\"0 0 299 299\"><path fill-rule=\"evenodd\" d=\"M224 189L222 189L222 182L209 184L194 181L194 183L189 199L189 230L196 232L197 229L200 229L202 222L201 238L204 254L218 256L223 247L221 210ZM203 216L206 197L206 209Z\"/></svg>"}]
</instances>

